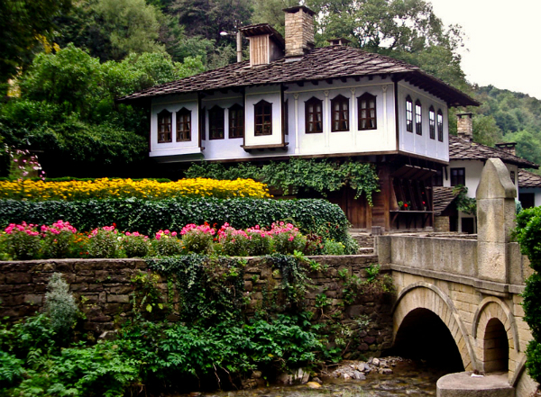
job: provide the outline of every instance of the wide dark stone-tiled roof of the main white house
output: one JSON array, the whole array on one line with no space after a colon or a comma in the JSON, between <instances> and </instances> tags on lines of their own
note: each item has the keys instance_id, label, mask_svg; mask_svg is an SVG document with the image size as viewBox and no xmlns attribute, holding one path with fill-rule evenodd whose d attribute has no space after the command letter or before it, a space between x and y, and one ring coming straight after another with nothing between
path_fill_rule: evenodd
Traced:
<instances>
[{"instance_id":1,"label":"wide dark stone-tiled roof of the main white house","mask_svg":"<svg viewBox=\"0 0 541 397\"><path fill-rule=\"evenodd\" d=\"M414 86L445 99L450 106L479 104L470 96L428 75L416 66L398 59L345 46L318 48L297 60L281 58L270 64L255 67L250 67L249 61L238 62L225 68L217 68L160 86L153 86L141 92L126 95L118 101L132 102L153 96L243 86L377 75L399 75Z\"/></svg>"}]
</instances>

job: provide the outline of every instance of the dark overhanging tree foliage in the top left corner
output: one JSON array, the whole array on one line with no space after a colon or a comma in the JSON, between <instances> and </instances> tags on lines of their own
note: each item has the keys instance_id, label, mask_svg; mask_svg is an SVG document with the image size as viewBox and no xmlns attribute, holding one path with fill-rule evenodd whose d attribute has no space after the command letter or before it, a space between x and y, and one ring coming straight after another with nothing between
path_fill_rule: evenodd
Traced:
<instances>
[{"instance_id":1,"label":"dark overhanging tree foliage in the top left corner","mask_svg":"<svg viewBox=\"0 0 541 397\"><path fill-rule=\"evenodd\" d=\"M30 64L35 46L53 41L53 19L70 5L71 0L0 1L0 85Z\"/></svg>"}]
</instances>

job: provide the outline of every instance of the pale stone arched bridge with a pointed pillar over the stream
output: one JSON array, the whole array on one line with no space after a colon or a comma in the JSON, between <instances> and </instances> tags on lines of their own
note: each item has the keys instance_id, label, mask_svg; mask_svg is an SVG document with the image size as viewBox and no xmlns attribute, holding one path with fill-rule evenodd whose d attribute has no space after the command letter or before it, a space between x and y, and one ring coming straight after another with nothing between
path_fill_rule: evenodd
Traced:
<instances>
[{"instance_id":1,"label":"pale stone arched bridge with a pointed pillar over the stream","mask_svg":"<svg viewBox=\"0 0 541 397\"><path fill-rule=\"evenodd\" d=\"M427 347L440 362L456 357L459 370L485 374L447 375L438 381L438 396L529 396L536 389L525 371L531 332L520 296L531 269L510 239L515 195L507 168L490 159L476 194L477 239L417 234L376 240L398 292L394 345Z\"/></svg>"}]
</instances>

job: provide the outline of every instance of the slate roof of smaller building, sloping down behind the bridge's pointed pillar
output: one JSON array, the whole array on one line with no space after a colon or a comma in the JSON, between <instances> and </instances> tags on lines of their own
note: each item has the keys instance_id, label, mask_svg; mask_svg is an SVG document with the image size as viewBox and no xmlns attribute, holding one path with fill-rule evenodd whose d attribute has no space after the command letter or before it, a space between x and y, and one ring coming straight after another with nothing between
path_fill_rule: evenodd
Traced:
<instances>
[{"instance_id":1,"label":"slate roof of smaller building, sloping down behind the bridge's pointed pillar","mask_svg":"<svg viewBox=\"0 0 541 397\"><path fill-rule=\"evenodd\" d=\"M505 150L449 136L449 160L486 160L488 158L500 158L504 163L523 168L539 168L536 163L514 156Z\"/></svg>"}]
</instances>

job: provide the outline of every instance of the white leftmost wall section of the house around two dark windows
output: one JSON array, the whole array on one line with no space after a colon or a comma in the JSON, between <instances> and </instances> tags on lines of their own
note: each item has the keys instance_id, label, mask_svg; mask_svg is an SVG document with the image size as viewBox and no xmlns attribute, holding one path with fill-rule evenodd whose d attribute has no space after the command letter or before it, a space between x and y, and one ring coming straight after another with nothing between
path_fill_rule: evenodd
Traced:
<instances>
[{"instance_id":1,"label":"white leftmost wall section of the house around two dark windows","mask_svg":"<svg viewBox=\"0 0 541 397\"><path fill-rule=\"evenodd\" d=\"M177 112L185 107L191 112L191 140L177 142ZM171 137L168 143L158 143L158 113L167 110L172 115ZM151 141L150 156L173 156L179 154L200 153L199 117L197 113L197 95L175 95L152 99L151 104Z\"/></svg>"}]
</instances>

